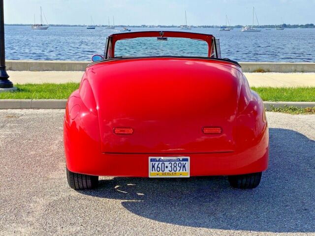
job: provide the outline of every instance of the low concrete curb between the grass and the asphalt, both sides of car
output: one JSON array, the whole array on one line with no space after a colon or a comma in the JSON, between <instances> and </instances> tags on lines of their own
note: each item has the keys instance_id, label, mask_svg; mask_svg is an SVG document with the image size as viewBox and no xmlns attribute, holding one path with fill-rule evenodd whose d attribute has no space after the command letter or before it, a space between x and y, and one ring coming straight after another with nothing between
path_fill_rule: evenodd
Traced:
<instances>
[{"instance_id":1,"label":"low concrete curb between the grass and the asphalt, both sides of car","mask_svg":"<svg viewBox=\"0 0 315 236\"><path fill-rule=\"evenodd\" d=\"M66 102L66 99L0 99L0 109L64 109ZM315 107L315 102L264 102L264 106L271 111L271 107Z\"/></svg>"}]
</instances>

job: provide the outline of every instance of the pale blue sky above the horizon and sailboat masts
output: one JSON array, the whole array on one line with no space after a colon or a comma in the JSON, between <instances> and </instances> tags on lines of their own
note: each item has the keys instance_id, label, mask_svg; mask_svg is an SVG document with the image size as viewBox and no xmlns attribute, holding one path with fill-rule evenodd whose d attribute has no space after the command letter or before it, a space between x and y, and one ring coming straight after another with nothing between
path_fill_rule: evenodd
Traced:
<instances>
[{"instance_id":1,"label":"pale blue sky above the horizon and sailboat masts","mask_svg":"<svg viewBox=\"0 0 315 236\"><path fill-rule=\"evenodd\" d=\"M186 10L188 25L225 25L225 15L251 25L253 6L260 25L315 24L315 0L4 0L4 23L38 23L40 6L49 24L184 25Z\"/></svg>"}]
</instances>

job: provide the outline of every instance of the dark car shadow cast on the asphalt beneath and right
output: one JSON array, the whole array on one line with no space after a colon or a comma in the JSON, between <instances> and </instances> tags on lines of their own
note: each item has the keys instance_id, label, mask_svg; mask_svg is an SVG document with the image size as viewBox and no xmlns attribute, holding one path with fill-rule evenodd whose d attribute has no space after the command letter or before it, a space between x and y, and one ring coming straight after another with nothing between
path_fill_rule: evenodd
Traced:
<instances>
[{"instance_id":1,"label":"dark car shadow cast on the asphalt beneath and right","mask_svg":"<svg viewBox=\"0 0 315 236\"><path fill-rule=\"evenodd\" d=\"M315 232L315 141L270 128L269 169L256 189L233 189L227 177L115 177L80 193L125 200L130 212L190 227Z\"/></svg>"}]
</instances>

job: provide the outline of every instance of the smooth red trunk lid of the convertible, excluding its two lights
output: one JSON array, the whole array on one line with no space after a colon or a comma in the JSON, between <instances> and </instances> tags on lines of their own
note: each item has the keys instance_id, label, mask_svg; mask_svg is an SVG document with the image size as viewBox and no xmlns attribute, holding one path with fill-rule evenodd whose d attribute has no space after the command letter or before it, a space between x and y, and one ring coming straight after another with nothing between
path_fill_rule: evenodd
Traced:
<instances>
[{"instance_id":1,"label":"smooth red trunk lid of the convertible, excluding its two lights","mask_svg":"<svg viewBox=\"0 0 315 236\"><path fill-rule=\"evenodd\" d=\"M89 67L101 151L233 151L239 90L239 72L233 67L200 59L128 59ZM220 126L222 133L204 134L204 126ZM117 127L134 132L117 135Z\"/></svg>"}]
</instances>

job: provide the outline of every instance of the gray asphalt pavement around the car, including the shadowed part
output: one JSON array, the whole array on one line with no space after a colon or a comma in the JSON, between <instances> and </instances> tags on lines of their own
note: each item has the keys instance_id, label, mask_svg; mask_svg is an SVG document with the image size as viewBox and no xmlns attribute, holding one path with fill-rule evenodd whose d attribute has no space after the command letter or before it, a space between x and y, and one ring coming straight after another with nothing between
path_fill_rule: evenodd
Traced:
<instances>
[{"instance_id":1,"label":"gray asphalt pavement around the car, including the shadowed part","mask_svg":"<svg viewBox=\"0 0 315 236\"><path fill-rule=\"evenodd\" d=\"M315 115L267 118L270 163L256 189L226 177L102 177L74 191L63 110L1 110L0 235L315 235Z\"/></svg>"}]
</instances>

